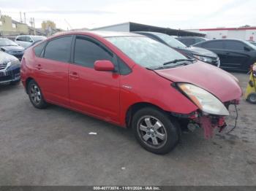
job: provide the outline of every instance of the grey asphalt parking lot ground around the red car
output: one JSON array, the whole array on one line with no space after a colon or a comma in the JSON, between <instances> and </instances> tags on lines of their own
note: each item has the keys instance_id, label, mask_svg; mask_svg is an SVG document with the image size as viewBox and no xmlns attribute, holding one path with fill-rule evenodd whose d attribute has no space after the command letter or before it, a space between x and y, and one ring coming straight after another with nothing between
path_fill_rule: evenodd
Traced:
<instances>
[{"instance_id":1,"label":"grey asphalt parking lot ground around the red car","mask_svg":"<svg viewBox=\"0 0 256 191\"><path fill-rule=\"evenodd\" d=\"M249 75L234 74L245 89ZM232 133L184 133L168 155L146 152L132 130L59 106L35 109L21 84L0 86L0 100L1 185L256 184L256 107L244 100Z\"/></svg>"}]
</instances>

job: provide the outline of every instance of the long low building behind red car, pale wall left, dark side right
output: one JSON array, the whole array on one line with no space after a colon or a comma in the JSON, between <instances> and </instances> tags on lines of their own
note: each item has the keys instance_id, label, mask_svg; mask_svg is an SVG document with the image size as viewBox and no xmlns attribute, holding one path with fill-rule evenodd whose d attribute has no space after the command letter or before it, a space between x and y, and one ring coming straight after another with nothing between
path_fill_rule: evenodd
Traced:
<instances>
[{"instance_id":1,"label":"long low building behind red car, pale wall left, dark side right","mask_svg":"<svg viewBox=\"0 0 256 191\"><path fill-rule=\"evenodd\" d=\"M158 26L148 26L140 23L121 23L113 26L103 26L100 28L93 28L91 31L123 31L123 32L132 32L132 31L151 31L159 32L163 34L173 35L173 36L205 36L205 34L192 31L183 31L172 28L163 28Z\"/></svg>"}]
</instances>

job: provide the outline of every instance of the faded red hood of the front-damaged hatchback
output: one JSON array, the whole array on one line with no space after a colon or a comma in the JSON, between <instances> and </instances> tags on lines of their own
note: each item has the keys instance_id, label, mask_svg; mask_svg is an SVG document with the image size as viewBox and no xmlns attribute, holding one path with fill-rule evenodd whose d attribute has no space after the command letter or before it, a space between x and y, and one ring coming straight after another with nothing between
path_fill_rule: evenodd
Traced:
<instances>
[{"instance_id":1,"label":"faded red hood of the front-damaged hatchback","mask_svg":"<svg viewBox=\"0 0 256 191\"><path fill-rule=\"evenodd\" d=\"M233 75L200 61L155 72L172 82L187 82L202 87L222 102L239 99L242 95L241 87Z\"/></svg>"}]
</instances>

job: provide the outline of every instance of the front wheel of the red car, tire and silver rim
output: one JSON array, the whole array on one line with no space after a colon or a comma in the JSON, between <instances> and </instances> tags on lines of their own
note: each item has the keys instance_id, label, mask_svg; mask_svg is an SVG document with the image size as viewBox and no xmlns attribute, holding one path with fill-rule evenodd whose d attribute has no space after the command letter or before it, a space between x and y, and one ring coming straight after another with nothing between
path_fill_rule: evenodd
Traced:
<instances>
[{"instance_id":1,"label":"front wheel of the red car, tire and silver rim","mask_svg":"<svg viewBox=\"0 0 256 191\"><path fill-rule=\"evenodd\" d=\"M138 110L132 117L132 129L144 149L159 155L174 149L180 136L178 122L154 107Z\"/></svg>"}]
</instances>

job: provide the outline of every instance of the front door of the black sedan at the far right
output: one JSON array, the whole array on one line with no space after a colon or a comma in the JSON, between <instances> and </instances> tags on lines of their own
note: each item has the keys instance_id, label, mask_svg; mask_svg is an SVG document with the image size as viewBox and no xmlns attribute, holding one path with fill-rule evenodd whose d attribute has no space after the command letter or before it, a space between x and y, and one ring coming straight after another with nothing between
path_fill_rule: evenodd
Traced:
<instances>
[{"instance_id":1,"label":"front door of the black sedan at the far right","mask_svg":"<svg viewBox=\"0 0 256 191\"><path fill-rule=\"evenodd\" d=\"M228 69L243 69L249 61L246 44L236 40L223 40L225 52L225 67Z\"/></svg>"}]
</instances>

